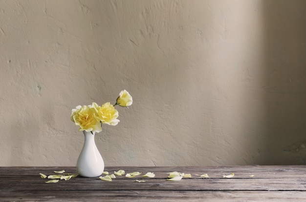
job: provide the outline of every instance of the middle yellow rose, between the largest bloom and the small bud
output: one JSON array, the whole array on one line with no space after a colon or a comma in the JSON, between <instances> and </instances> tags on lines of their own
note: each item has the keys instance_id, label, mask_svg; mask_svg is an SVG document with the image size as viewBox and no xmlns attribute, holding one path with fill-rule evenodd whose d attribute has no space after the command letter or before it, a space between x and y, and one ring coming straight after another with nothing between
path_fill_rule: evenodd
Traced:
<instances>
[{"instance_id":1,"label":"middle yellow rose, between the largest bloom and the small bud","mask_svg":"<svg viewBox=\"0 0 306 202\"><path fill-rule=\"evenodd\" d=\"M110 104L109 102L106 102L102 106L99 106L98 104L93 102L92 105L96 109L97 120L101 121L102 123L109 124L109 125L118 124L119 120L117 118L119 116L119 113L112 104Z\"/></svg>"}]
</instances>

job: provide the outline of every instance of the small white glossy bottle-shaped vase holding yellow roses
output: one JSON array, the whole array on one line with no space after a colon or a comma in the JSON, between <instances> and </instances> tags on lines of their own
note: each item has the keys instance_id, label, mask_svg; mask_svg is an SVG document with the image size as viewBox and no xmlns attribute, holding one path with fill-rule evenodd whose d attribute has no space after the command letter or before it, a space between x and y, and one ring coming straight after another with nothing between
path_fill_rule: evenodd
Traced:
<instances>
[{"instance_id":1,"label":"small white glossy bottle-shaped vase holding yellow roses","mask_svg":"<svg viewBox=\"0 0 306 202\"><path fill-rule=\"evenodd\" d=\"M85 141L76 167L82 177L98 177L104 171L104 161L94 141L95 132L83 131Z\"/></svg>"}]
</instances>

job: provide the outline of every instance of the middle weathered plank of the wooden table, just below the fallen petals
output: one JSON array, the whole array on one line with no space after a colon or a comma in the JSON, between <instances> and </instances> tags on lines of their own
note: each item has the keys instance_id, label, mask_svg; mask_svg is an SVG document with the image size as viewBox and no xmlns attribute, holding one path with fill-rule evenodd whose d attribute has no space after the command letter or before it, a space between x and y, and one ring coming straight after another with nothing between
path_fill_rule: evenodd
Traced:
<instances>
[{"instance_id":1,"label":"middle weathered plank of the wooden table, just below the fallen petals","mask_svg":"<svg viewBox=\"0 0 306 202\"><path fill-rule=\"evenodd\" d=\"M1 191L33 191L33 190L283 190L283 191L306 191L305 182L284 181L271 179L183 179L177 182L170 182L159 179L146 179L146 182L136 182L135 179L114 179L112 182L101 181L100 179L60 181L47 184L45 179L33 179L31 181L4 181L0 182Z\"/></svg>"}]
</instances>

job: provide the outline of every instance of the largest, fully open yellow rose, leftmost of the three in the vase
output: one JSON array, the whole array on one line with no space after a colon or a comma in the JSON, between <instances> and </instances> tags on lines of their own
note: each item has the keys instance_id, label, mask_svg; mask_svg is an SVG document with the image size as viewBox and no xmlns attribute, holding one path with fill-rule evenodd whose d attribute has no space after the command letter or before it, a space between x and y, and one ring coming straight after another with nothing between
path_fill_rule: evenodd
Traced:
<instances>
[{"instance_id":1,"label":"largest, fully open yellow rose, leftmost of the three in the vase","mask_svg":"<svg viewBox=\"0 0 306 202\"><path fill-rule=\"evenodd\" d=\"M79 131L96 131L97 133L102 131L101 123L96 119L96 109L93 105L79 105L72 109L70 119L80 126Z\"/></svg>"}]
</instances>

